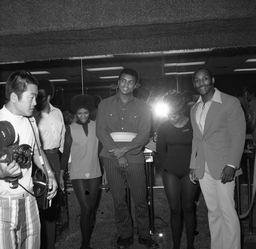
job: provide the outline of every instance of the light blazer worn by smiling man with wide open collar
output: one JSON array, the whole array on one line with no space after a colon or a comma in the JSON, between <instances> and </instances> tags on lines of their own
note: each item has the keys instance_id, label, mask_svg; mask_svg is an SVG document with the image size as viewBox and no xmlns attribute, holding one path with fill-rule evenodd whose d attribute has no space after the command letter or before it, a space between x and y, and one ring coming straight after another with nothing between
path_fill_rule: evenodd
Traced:
<instances>
[{"instance_id":1,"label":"light blazer worn by smiling man with wide open collar","mask_svg":"<svg viewBox=\"0 0 256 249\"><path fill-rule=\"evenodd\" d=\"M227 164L236 167L236 175L242 173L239 167L245 143L245 115L236 97L221 93L221 102L212 101L203 134L196 122L198 103L190 111L193 126L190 169L196 169L199 179L204 176L205 161L215 179L220 179Z\"/></svg>"}]
</instances>

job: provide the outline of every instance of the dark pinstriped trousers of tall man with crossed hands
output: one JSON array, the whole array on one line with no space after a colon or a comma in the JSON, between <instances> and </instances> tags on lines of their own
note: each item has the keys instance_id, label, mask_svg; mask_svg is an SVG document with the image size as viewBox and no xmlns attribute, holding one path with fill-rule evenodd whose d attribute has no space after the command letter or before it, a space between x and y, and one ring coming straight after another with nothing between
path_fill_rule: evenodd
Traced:
<instances>
[{"instance_id":1,"label":"dark pinstriped trousers of tall man with crossed hands","mask_svg":"<svg viewBox=\"0 0 256 249\"><path fill-rule=\"evenodd\" d=\"M114 200L115 222L120 237L124 239L133 235L132 218L125 199L125 179L134 200L139 236L143 239L150 237L144 163L130 163L126 168L120 168L117 161L112 159L103 158L103 163Z\"/></svg>"}]
</instances>

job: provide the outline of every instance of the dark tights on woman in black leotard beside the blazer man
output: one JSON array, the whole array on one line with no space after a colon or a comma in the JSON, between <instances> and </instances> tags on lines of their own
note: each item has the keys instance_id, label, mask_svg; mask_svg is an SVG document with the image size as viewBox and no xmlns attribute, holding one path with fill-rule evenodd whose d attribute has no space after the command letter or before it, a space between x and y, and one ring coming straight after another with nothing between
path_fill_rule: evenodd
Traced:
<instances>
[{"instance_id":1,"label":"dark tights on woman in black leotard beside the blazer man","mask_svg":"<svg viewBox=\"0 0 256 249\"><path fill-rule=\"evenodd\" d=\"M163 186L170 207L170 227L173 234L174 249L180 248L182 234L181 208L187 235L187 248L194 248L195 217L193 213L197 185L190 182L189 176L178 177L163 171Z\"/></svg>"}]
</instances>

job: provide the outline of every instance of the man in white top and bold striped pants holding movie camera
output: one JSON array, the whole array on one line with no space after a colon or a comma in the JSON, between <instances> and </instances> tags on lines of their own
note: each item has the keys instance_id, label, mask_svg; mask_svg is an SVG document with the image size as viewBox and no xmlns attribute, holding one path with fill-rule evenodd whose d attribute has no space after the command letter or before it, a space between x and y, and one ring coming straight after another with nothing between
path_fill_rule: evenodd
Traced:
<instances>
[{"instance_id":1,"label":"man in white top and bold striped pants holding movie camera","mask_svg":"<svg viewBox=\"0 0 256 249\"><path fill-rule=\"evenodd\" d=\"M26 71L12 73L6 83L7 103L0 110L0 122L10 131L5 134L7 139L8 135L10 137L15 134L15 143L5 144L6 138L1 139L1 144L8 148L0 148L0 248L40 247L40 221L36 198L26 191L33 192L32 156L35 164L43 171L41 157L44 158L45 173L49 178L47 198L52 199L56 195L56 179L44 151L37 147L33 133L34 129L38 137L35 119L31 117L36 105L37 85L38 81ZM12 153L12 147L16 152ZM31 148L31 151L28 148ZM3 155L3 152L10 153Z\"/></svg>"}]
</instances>

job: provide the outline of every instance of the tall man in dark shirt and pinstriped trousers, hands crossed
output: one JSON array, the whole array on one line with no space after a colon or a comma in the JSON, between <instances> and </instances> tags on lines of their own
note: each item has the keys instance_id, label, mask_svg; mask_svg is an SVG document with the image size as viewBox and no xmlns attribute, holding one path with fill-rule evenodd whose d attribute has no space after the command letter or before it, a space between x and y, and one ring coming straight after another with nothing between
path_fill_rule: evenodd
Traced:
<instances>
[{"instance_id":1,"label":"tall man in dark shirt and pinstriped trousers, hands crossed","mask_svg":"<svg viewBox=\"0 0 256 249\"><path fill-rule=\"evenodd\" d=\"M144 102L133 97L138 80L139 75L135 70L122 70L117 95L99 103L96 119L96 134L103 145L100 156L108 175L120 236L117 249L127 249L134 241L132 219L125 201L125 179L134 199L139 243L150 249L159 247L150 236L142 152L150 135L150 110ZM133 132L134 137L124 141L124 136L118 138L118 132L127 132L127 135ZM118 142L112 137L117 138Z\"/></svg>"}]
</instances>

